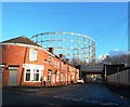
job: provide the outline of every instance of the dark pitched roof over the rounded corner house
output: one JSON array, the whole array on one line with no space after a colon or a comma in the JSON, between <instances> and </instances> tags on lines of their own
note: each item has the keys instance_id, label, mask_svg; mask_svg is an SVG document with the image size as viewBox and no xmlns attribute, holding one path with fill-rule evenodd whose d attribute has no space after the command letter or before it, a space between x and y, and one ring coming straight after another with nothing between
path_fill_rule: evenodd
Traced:
<instances>
[{"instance_id":1,"label":"dark pitched roof over the rounded corner house","mask_svg":"<svg viewBox=\"0 0 130 107\"><path fill-rule=\"evenodd\" d=\"M39 44L37 44L36 42L31 41L30 39L28 39L25 36L21 36L21 37L17 37L17 38L5 40L2 43L23 43L23 44L31 44L31 45L40 46Z\"/></svg>"}]
</instances>

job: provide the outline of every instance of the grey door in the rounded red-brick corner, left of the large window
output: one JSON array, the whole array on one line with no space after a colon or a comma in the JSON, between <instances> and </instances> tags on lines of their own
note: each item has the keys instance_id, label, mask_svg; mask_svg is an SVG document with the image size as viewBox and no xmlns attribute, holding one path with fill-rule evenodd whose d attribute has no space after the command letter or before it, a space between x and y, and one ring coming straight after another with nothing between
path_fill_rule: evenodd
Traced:
<instances>
[{"instance_id":1,"label":"grey door in the rounded red-brick corner, left of the large window","mask_svg":"<svg viewBox=\"0 0 130 107\"><path fill-rule=\"evenodd\" d=\"M17 85L17 70L18 67L9 67L9 85Z\"/></svg>"}]
</instances>

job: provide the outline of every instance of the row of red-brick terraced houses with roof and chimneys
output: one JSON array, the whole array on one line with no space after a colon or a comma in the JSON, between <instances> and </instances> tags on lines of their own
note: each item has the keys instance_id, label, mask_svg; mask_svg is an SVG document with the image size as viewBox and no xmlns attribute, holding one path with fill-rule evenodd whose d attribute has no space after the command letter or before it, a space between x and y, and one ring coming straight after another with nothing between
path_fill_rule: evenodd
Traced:
<instances>
[{"instance_id":1,"label":"row of red-brick terraced houses with roof and chimneys","mask_svg":"<svg viewBox=\"0 0 130 107\"><path fill-rule=\"evenodd\" d=\"M3 41L2 85L3 86L41 86L41 77L48 86L75 83L79 69L54 54L54 49L44 50L27 37L17 37Z\"/></svg>"}]
</instances>

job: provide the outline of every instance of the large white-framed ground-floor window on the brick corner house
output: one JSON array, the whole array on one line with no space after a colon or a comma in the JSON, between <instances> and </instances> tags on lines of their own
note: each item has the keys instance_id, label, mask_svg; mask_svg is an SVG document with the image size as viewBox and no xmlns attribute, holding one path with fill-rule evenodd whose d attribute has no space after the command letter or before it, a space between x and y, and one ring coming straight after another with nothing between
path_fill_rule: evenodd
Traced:
<instances>
[{"instance_id":1,"label":"large white-framed ground-floor window on the brick corner house","mask_svg":"<svg viewBox=\"0 0 130 107\"><path fill-rule=\"evenodd\" d=\"M42 70L40 69L26 69L25 81L40 81Z\"/></svg>"}]
</instances>

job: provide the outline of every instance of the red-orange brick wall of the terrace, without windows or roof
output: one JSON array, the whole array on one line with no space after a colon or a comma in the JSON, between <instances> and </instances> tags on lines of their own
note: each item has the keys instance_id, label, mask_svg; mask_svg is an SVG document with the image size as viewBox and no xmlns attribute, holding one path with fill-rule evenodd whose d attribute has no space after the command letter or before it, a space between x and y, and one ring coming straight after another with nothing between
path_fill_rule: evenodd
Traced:
<instances>
[{"instance_id":1,"label":"red-orange brick wall of the terrace, without windows or roof","mask_svg":"<svg viewBox=\"0 0 130 107\"><path fill-rule=\"evenodd\" d=\"M36 61L30 59L30 51L35 50L37 54ZM18 66L17 71L17 85L31 85L31 86L40 86L41 81L31 82L31 81L25 81L25 70L27 69L24 67L25 65L32 67L35 66L43 66L42 69L42 76L46 76L47 78L47 85L57 85L57 84L69 84L70 80L74 79L74 81L77 81L77 78L79 78L79 70L75 69L74 67L69 66L65 62L61 61L60 57L55 56L54 54L44 51L41 48L34 46L34 45L27 45L27 44L3 44L2 45L2 63L5 63L5 66L3 68L3 75L2 75L2 82L3 85L9 84L9 66ZM63 68L62 68L63 64ZM51 82L48 81L48 70L51 70L51 76L53 76L53 80ZM56 71L58 71L58 75L56 75ZM61 73L65 76L65 80L61 81ZM73 75L73 77L72 77ZM57 76L57 77L56 77ZM56 81L56 79L58 81ZM55 81L54 81L55 80Z\"/></svg>"}]
</instances>

